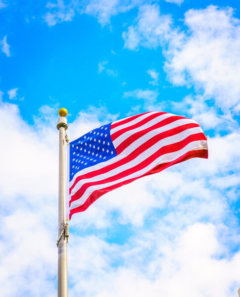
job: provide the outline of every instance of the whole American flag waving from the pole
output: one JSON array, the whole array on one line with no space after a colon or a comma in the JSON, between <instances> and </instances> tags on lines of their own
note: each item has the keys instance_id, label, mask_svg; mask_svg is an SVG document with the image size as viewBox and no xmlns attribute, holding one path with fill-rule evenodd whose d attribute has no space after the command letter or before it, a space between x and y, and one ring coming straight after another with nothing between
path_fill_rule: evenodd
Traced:
<instances>
[{"instance_id":1,"label":"whole American flag waving from the pole","mask_svg":"<svg viewBox=\"0 0 240 297\"><path fill-rule=\"evenodd\" d=\"M101 126L69 145L67 211L86 210L103 194L192 157L208 157L194 120L146 112Z\"/></svg>"}]
</instances>

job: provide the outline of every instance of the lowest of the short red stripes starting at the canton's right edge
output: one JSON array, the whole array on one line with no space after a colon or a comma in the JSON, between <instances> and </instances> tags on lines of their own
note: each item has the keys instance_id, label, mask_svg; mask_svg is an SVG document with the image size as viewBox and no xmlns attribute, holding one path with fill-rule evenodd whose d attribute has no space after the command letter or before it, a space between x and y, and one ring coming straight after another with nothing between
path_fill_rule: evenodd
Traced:
<instances>
[{"instance_id":1,"label":"lowest of the short red stripes starting at the canton's right edge","mask_svg":"<svg viewBox=\"0 0 240 297\"><path fill-rule=\"evenodd\" d=\"M127 148L128 146L130 146L134 141L136 141L137 139L139 139L140 137L142 137L144 134L152 131L152 130L155 130L155 129L158 129L158 128L161 128L165 125L168 125L168 124L171 124L179 119L182 119L183 117L179 117L179 116L171 116L169 118L166 118L158 123L156 123L155 125L151 126L151 127L148 127L144 130L141 130L141 131L138 131L134 134L132 134L131 136L129 136L128 138L126 138L117 148L116 148L116 152L117 154L119 155L125 148ZM186 119L186 118L184 118ZM200 127L199 124L197 123L191 123L192 124L192 127ZM187 124L185 124L187 125ZM182 126L185 126L185 125L182 125ZM171 128L171 129L174 129L174 128ZM171 130L170 129L170 130Z\"/></svg>"}]
</instances>

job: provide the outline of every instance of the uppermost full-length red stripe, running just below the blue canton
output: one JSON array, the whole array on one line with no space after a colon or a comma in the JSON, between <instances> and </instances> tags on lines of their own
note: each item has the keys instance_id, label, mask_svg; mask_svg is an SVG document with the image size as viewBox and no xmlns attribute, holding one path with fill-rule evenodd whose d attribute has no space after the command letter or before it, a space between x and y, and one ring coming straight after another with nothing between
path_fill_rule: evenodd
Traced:
<instances>
[{"instance_id":1,"label":"uppermost full-length red stripe, running just below the blue canton","mask_svg":"<svg viewBox=\"0 0 240 297\"><path fill-rule=\"evenodd\" d=\"M69 194L71 194L72 189L75 187L75 185L81 180L81 179L87 179L87 178L91 178L103 173L106 173L114 168L117 168L125 163L130 162L131 160L135 159L140 153L142 153L144 150L146 150L147 148L152 147L155 143L157 143L158 141L166 138L166 137L170 137L176 134L179 134L180 132L183 132L187 129L190 129L192 127L194 127L195 123L190 123L190 124L186 124L186 125L182 125L182 126L178 126L175 127L171 130L167 130L164 131L162 133L159 133L155 136L153 136L151 139L149 139L148 141L146 141L145 143L143 143L141 146L139 146L138 148L136 148L135 150L133 150L129 155L127 155L126 157L118 160L117 162L111 163L103 168L100 168L98 170L95 171L91 171L88 172L84 175L78 176L76 178L76 180L74 181L73 185L71 186L71 188L69 189ZM203 134L203 133L202 133ZM204 134L203 134L204 135ZM205 136L204 136L205 137ZM205 139L206 140L206 137Z\"/></svg>"}]
</instances>

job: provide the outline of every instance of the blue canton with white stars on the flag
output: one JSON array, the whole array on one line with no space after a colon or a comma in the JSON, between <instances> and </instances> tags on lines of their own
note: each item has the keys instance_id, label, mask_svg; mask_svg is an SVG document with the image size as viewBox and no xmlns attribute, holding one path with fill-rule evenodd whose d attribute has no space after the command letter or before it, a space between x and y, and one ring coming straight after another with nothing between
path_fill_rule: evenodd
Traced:
<instances>
[{"instance_id":1,"label":"blue canton with white stars on the flag","mask_svg":"<svg viewBox=\"0 0 240 297\"><path fill-rule=\"evenodd\" d=\"M82 169L105 162L117 155L111 140L110 128L111 123L101 126L69 144L69 181Z\"/></svg>"}]
</instances>

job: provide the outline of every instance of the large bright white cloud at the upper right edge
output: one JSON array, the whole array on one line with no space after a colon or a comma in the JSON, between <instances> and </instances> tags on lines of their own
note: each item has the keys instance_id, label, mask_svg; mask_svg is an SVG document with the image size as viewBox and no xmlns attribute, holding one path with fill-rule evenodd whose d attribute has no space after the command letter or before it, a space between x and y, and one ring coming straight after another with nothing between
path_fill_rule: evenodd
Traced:
<instances>
[{"instance_id":1,"label":"large bright white cloud at the upper right edge","mask_svg":"<svg viewBox=\"0 0 240 297\"><path fill-rule=\"evenodd\" d=\"M240 98L240 20L232 8L211 5L187 11L185 24L188 34L175 35L165 52L169 79L176 85L193 84L228 112Z\"/></svg>"}]
</instances>

